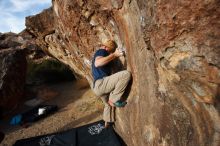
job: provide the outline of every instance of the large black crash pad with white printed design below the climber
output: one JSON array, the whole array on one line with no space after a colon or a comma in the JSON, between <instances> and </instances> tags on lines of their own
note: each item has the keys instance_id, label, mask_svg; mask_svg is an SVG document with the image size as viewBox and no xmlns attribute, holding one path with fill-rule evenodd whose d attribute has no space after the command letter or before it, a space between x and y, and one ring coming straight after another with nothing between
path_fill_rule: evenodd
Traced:
<instances>
[{"instance_id":1,"label":"large black crash pad with white printed design below the climber","mask_svg":"<svg viewBox=\"0 0 220 146\"><path fill-rule=\"evenodd\" d=\"M104 128L104 122L73 128L68 131L21 139L13 146L121 146L112 127Z\"/></svg>"}]
</instances>

